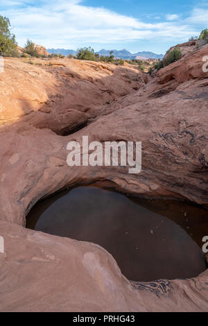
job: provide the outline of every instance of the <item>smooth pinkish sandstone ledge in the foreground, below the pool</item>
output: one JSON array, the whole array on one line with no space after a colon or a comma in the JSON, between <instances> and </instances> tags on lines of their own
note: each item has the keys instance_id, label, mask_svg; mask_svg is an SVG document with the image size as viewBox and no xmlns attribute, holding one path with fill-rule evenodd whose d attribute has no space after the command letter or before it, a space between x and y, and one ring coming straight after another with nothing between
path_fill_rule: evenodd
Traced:
<instances>
[{"instance_id":1,"label":"smooth pinkish sandstone ledge in the foreground, below the pool","mask_svg":"<svg viewBox=\"0 0 208 326\"><path fill-rule=\"evenodd\" d=\"M0 221L0 311L207 311L208 271L192 280L130 282L93 243Z\"/></svg>"}]
</instances>

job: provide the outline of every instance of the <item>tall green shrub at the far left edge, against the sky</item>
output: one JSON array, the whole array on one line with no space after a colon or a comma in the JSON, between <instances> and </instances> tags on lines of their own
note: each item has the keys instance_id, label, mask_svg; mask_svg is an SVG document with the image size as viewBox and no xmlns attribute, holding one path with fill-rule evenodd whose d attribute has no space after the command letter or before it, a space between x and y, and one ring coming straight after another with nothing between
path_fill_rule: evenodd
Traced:
<instances>
[{"instance_id":1,"label":"tall green shrub at the far left edge, against the sky","mask_svg":"<svg viewBox=\"0 0 208 326\"><path fill-rule=\"evenodd\" d=\"M17 57L17 42L15 35L10 32L10 19L0 15L0 55L8 57Z\"/></svg>"}]
</instances>

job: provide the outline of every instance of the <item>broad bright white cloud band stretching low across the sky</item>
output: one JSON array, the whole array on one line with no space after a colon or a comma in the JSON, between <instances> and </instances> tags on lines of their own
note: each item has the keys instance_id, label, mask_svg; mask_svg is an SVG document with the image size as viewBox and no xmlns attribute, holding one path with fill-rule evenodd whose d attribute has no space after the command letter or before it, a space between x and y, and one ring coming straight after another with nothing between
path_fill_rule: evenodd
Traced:
<instances>
[{"instance_id":1,"label":"broad bright white cloud band stretching low across the sky","mask_svg":"<svg viewBox=\"0 0 208 326\"><path fill-rule=\"evenodd\" d=\"M1 14L10 17L13 33L21 46L27 38L47 48L73 46L76 49L83 43L164 41L170 38L178 41L197 34L189 22L175 23L173 17L170 22L153 24L151 20L145 23L105 8L84 6L80 0L23 0L21 6L8 6L3 13L1 10Z\"/></svg>"}]
</instances>

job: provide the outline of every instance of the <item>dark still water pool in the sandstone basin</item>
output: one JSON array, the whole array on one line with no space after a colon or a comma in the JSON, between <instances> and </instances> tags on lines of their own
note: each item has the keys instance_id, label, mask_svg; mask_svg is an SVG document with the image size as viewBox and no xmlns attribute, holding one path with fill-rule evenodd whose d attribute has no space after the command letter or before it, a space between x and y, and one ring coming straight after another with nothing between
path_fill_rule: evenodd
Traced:
<instances>
[{"instance_id":1,"label":"dark still water pool in the sandstone basin","mask_svg":"<svg viewBox=\"0 0 208 326\"><path fill-rule=\"evenodd\" d=\"M129 280L195 277L205 271L207 210L176 200L145 200L97 187L62 191L37 203L27 228L98 243Z\"/></svg>"}]
</instances>

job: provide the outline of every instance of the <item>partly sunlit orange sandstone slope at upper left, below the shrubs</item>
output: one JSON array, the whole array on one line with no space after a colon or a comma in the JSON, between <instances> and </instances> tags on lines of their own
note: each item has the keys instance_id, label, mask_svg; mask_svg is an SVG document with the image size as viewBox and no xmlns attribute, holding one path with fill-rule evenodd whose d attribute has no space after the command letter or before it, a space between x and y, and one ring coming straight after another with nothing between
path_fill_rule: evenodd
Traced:
<instances>
[{"instance_id":1,"label":"partly sunlit orange sandstone slope at upper left, below the shrubs","mask_svg":"<svg viewBox=\"0 0 208 326\"><path fill-rule=\"evenodd\" d=\"M31 62L33 65L29 65ZM27 121L35 119L35 126L38 121L43 126L46 120L59 119L57 116L71 110L98 115L102 105L134 92L147 81L137 67L69 59L6 58L5 72L0 75L0 121L17 121L30 114Z\"/></svg>"}]
</instances>

